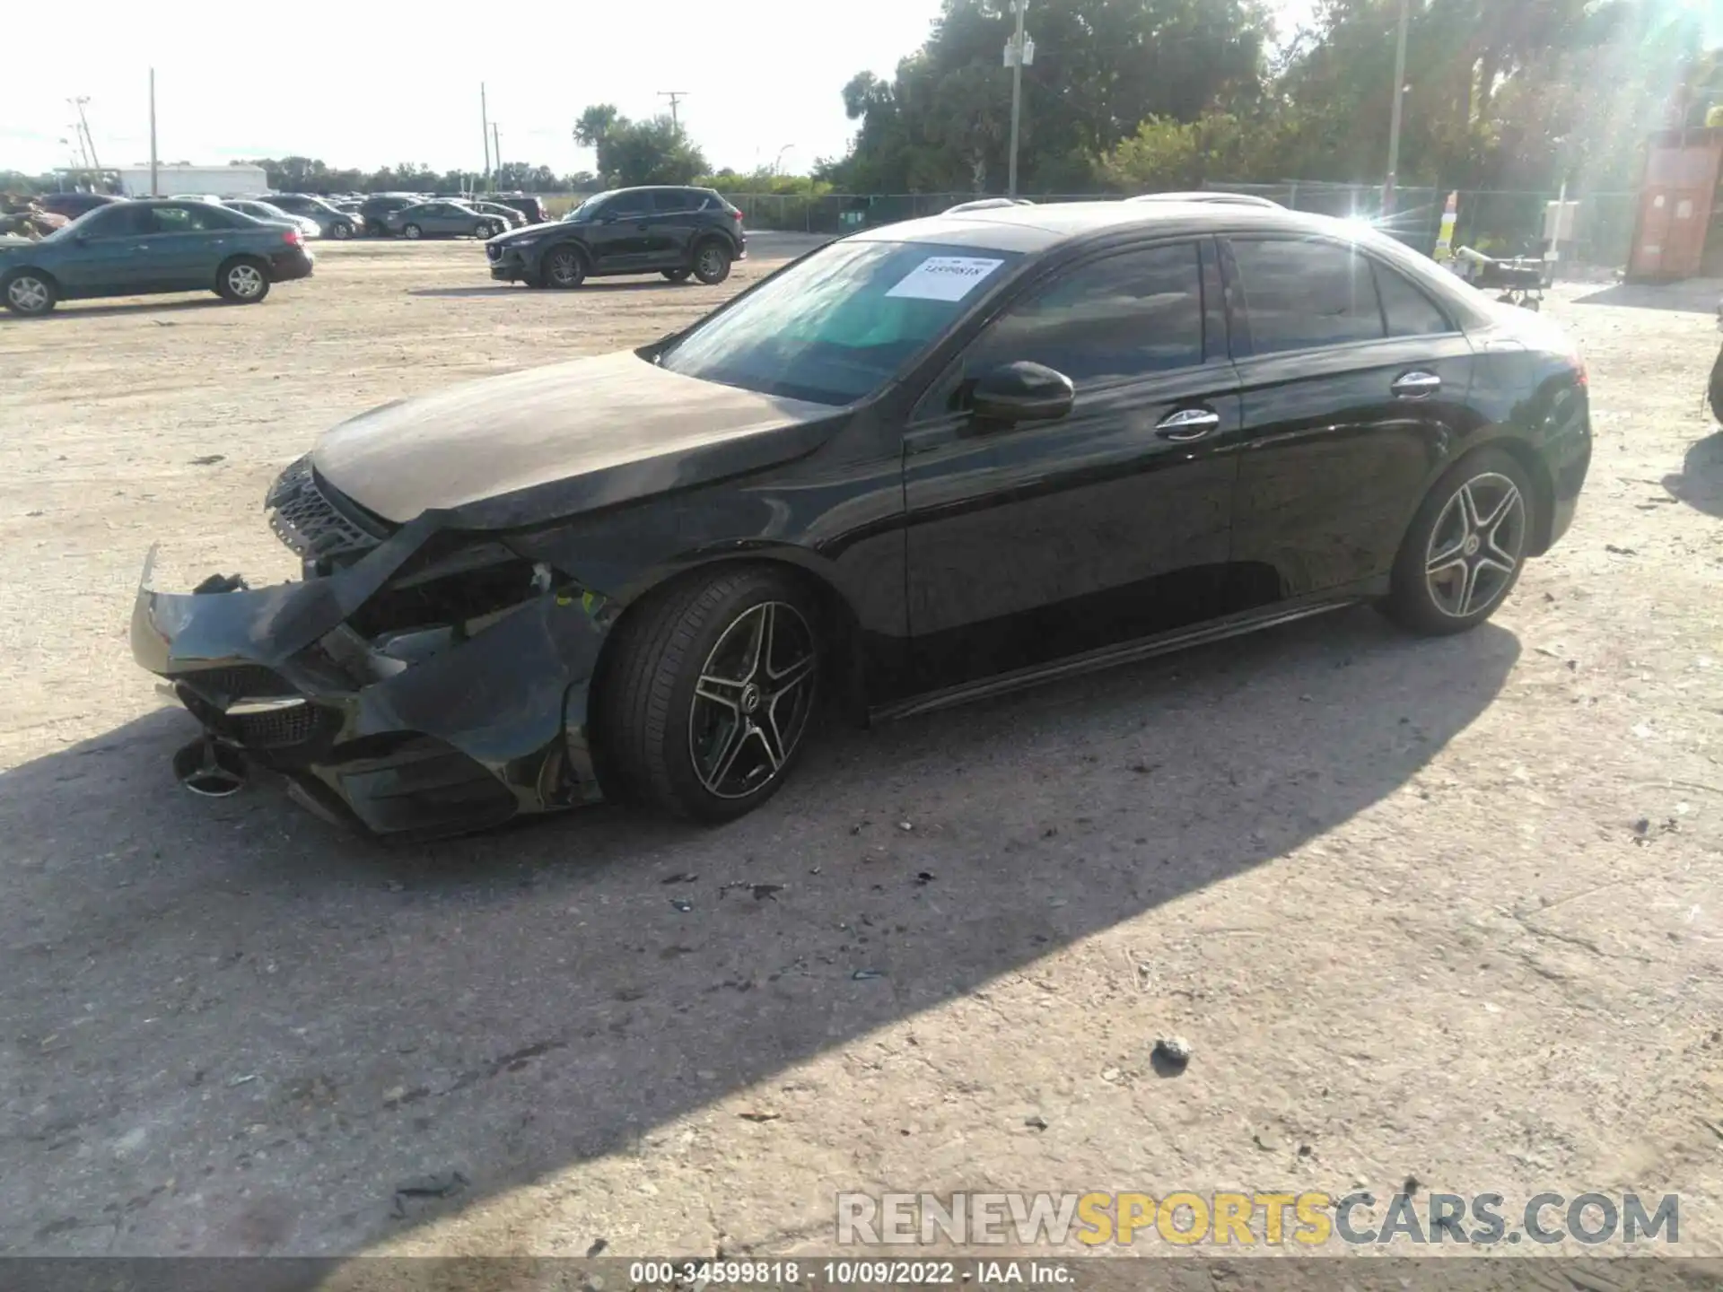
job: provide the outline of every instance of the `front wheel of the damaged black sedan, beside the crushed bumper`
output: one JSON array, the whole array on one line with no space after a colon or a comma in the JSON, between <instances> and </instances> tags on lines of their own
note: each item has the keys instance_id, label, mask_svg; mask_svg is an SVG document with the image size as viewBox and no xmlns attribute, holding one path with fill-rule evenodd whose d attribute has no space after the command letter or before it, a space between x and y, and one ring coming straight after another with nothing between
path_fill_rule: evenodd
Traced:
<instances>
[{"instance_id":1,"label":"front wheel of the damaged black sedan, beside the crushed bumper","mask_svg":"<svg viewBox=\"0 0 1723 1292\"><path fill-rule=\"evenodd\" d=\"M775 794L818 699L820 639L803 591L779 570L736 568L669 589L619 632L596 699L625 796L725 822Z\"/></svg>"}]
</instances>

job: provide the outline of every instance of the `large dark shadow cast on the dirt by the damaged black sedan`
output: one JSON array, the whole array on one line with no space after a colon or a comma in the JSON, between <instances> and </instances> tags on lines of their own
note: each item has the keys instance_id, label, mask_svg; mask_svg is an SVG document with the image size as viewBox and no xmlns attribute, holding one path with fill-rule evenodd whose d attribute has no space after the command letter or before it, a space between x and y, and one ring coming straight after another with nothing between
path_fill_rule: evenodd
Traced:
<instances>
[{"instance_id":1,"label":"large dark shadow cast on the dirt by the damaged black sedan","mask_svg":"<svg viewBox=\"0 0 1723 1292\"><path fill-rule=\"evenodd\" d=\"M625 1151L1291 865L1406 787L1518 653L1342 612L832 729L722 829L603 808L420 848L272 792L193 799L167 767L190 720L150 713L0 775L0 1251L353 1252ZM391 1214L398 1182L448 1171L458 1196Z\"/></svg>"}]
</instances>

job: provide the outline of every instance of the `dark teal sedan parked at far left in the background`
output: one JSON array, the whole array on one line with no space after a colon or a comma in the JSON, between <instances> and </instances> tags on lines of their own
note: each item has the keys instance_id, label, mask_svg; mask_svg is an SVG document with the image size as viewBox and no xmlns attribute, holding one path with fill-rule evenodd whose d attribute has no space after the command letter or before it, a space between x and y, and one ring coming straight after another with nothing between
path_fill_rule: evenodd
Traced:
<instances>
[{"instance_id":1,"label":"dark teal sedan parked at far left in the background","mask_svg":"<svg viewBox=\"0 0 1723 1292\"><path fill-rule=\"evenodd\" d=\"M48 314L62 300L159 291L214 291L248 305L272 283L310 272L298 229L214 202L140 198L0 252L0 300L21 315Z\"/></svg>"}]
</instances>

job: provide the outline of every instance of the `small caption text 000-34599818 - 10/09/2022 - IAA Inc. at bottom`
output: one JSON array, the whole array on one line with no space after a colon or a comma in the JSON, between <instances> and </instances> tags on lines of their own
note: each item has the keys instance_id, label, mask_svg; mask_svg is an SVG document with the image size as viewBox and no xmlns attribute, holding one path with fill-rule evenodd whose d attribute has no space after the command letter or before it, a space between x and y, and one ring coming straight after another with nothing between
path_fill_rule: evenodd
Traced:
<instances>
[{"instance_id":1,"label":"small caption text 000-34599818 - 10/09/2022 - IAA Inc. at bottom","mask_svg":"<svg viewBox=\"0 0 1723 1292\"><path fill-rule=\"evenodd\" d=\"M1063 1261L634 1261L634 1287L1070 1287Z\"/></svg>"}]
</instances>

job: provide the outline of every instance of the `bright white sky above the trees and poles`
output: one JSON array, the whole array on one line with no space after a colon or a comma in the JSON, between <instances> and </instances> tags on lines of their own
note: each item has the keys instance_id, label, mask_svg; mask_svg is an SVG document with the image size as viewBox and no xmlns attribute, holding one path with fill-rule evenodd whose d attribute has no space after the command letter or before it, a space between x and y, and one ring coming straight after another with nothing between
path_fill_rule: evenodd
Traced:
<instances>
[{"instance_id":1,"label":"bright white sky above the trees and poles","mask_svg":"<svg viewBox=\"0 0 1723 1292\"><path fill-rule=\"evenodd\" d=\"M1675 0L1718 10L1718 0ZM1280 0L1284 28L1315 0ZM679 112L713 167L786 171L839 157L853 122L841 90L860 71L891 76L925 40L939 0L653 0L650 5L351 3L265 7L236 26L203 5L122 7L96 0L76 57L9 59L0 78L0 171L48 171L74 160L69 100L84 112L103 165L148 162L148 69L155 67L162 162L319 157L376 169L400 162L479 171L479 86L501 155L589 169L570 127L589 103L624 115ZM241 12L241 10L236 10ZM844 17L830 17L843 12ZM12 50L65 50L67 16L14 7ZM1034 0L1029 10L1034 33ZM1720 33L1723 34L1723 33Z\"/></svg>"}]
</instances>

